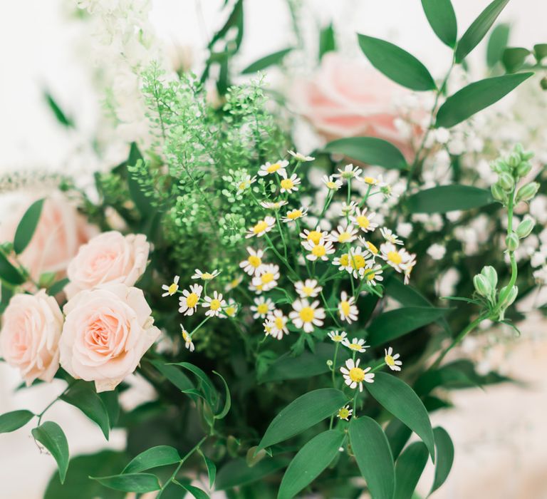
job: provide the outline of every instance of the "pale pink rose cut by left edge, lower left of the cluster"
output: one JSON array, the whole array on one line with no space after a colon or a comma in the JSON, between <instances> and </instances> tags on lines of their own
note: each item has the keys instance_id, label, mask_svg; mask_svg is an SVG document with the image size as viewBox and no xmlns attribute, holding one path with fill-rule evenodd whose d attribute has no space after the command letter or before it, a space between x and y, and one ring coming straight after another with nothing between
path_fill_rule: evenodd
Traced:
<instances>
[{"instance_id":1,"label":"pale pink rose cut by left edge, lower left of the cluster","mask_svg":"<svg viewBox=\"0 0 547 499\"><path fill-rule=\"evenodd\" d=\"M2 317L0 346L6 362L19 368L30 385L36 378L51 381L59 368L63 314L45 290L16 294Z\"/></svg>"}]
</instances>

